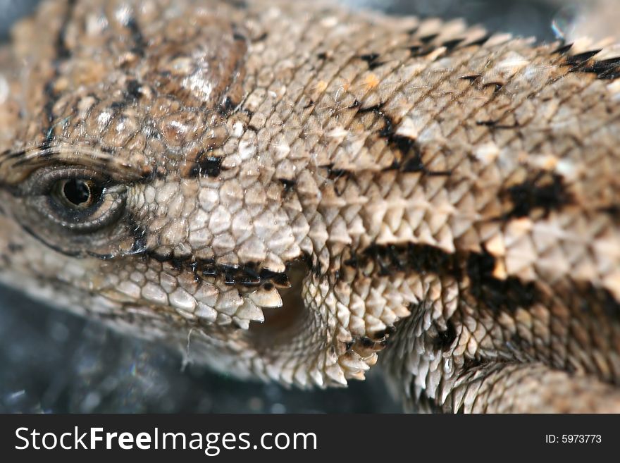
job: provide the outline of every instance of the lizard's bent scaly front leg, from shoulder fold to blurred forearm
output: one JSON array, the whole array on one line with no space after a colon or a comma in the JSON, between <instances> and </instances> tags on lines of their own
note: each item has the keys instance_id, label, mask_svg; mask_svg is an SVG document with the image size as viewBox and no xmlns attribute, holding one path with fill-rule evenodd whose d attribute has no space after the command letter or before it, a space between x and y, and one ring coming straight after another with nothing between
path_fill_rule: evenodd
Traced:
<instances>
[{"instance_id":1,"label":"lizard's bent scaly front leg, from shoulder fold to blurred forearm","mask_svg":"<svg viewBox=\"0 0 620 463\"><path fill-rule=\"evenodd\" d=\"M449 285L450 280L444 278L442 288ZM477 310L459 300L461 305L451 314L445 311L448 306L443 299L433 304L427 293L423 304L412 307L412 315L397 325L382 357L388 383L404 397L409 411L620 412L620 390L613 377L588 369L587 362L584 366L574 361L554 362L537 354L538 350L547 352L545 346L553 345L552 337L548 344L518 345L521 338L514 333L527 338L526 329L513 332L509 323L505 333L498 328L500 321L510 320L508 312ZM540 312L540 307L534 309ZM514 317L526 319L527 313L519 309ZM476 314L476 323L470 314ZM607 323L610 330L612 326ZM597 341L605 339L600 335Z\"/></svg>"}]
</instances>

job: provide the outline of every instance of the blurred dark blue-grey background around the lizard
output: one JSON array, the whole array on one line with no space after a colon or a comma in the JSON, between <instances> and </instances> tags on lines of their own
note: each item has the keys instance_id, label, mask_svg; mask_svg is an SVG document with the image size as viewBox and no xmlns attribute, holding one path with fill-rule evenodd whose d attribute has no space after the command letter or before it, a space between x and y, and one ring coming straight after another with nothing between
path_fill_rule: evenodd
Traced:
<instances>
[{"instance_id":1,"label":"blurred dark blue-grey background around the lizard","mask_svg":"<svg viewBox=\"0 0 620 463\"><path fill-rule=\"evenodd\" d=\"M617 0L609 0L617 1ZM0 0L0 40L37 0ZM553 40L592 1L342 0L395 15L464 17L489 30ZM554 26L554 27L552 27ZM0 412L399 412L380 371L347 390L302 392L240 383L175 352L42 307L0 286Z\"/></svg>"}]
</instances>

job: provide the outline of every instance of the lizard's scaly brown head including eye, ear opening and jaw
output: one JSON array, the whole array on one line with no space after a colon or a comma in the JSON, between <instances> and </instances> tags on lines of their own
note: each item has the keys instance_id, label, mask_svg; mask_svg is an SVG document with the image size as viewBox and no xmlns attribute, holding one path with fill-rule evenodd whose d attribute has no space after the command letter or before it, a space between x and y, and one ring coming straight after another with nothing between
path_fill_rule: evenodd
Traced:
<instances>
[{"instance_id":1,"label":"lizard's scaly brown head including eye, ear opening and jaw","mask_svg":"<svg viewBox=\"0 0 620 463\"><path fill-rule=\"evenodd\" d=\"M335 313L324 229L311 237L300 203L316 186L306 175L306 199L290 192L296 166L252 129L260 31L207 8L188 23L85 3L45 4L5 51L0 278L227 373L363 378L382 336Z\"/></svg>"}]
</instances>

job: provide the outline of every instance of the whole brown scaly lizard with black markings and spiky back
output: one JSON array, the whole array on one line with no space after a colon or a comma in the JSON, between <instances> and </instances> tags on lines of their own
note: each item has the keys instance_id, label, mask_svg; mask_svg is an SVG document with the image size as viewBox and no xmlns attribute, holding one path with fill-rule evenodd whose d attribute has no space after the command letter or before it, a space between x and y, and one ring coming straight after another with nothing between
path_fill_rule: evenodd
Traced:
<instances>
[{"instance_id":1,"label":"whole brown scaly lizard with black markings and spiky back","mask_svg":"<svg viewBox=\"0 0 620 463\"><path fill-rule=\"evenodd\" d=\"M0 281L298 388L620 412L620 58L280 0L48 0L0 51Z\"/></svg>"}]
</instances>

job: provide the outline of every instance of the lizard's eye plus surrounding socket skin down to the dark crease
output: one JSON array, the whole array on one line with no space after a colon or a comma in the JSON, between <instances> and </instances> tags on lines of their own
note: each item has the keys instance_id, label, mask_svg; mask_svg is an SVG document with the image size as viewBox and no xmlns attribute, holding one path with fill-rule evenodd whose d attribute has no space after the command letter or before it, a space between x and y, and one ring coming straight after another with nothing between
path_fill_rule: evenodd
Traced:
<instances>
[{"instance_id":1,"label":"lizard's eye plus surrounding socket skin down to the dark crease","mask_svg":"<svg viewBox=\"0 0 620 463\"><path fill-rule=\"evenodd\" d=\"M11 213L26 233L58 252L112 259L142 249L128 220L130 184L90 166L40 167L13 187Z\"/></svg>"}]
</instances>

